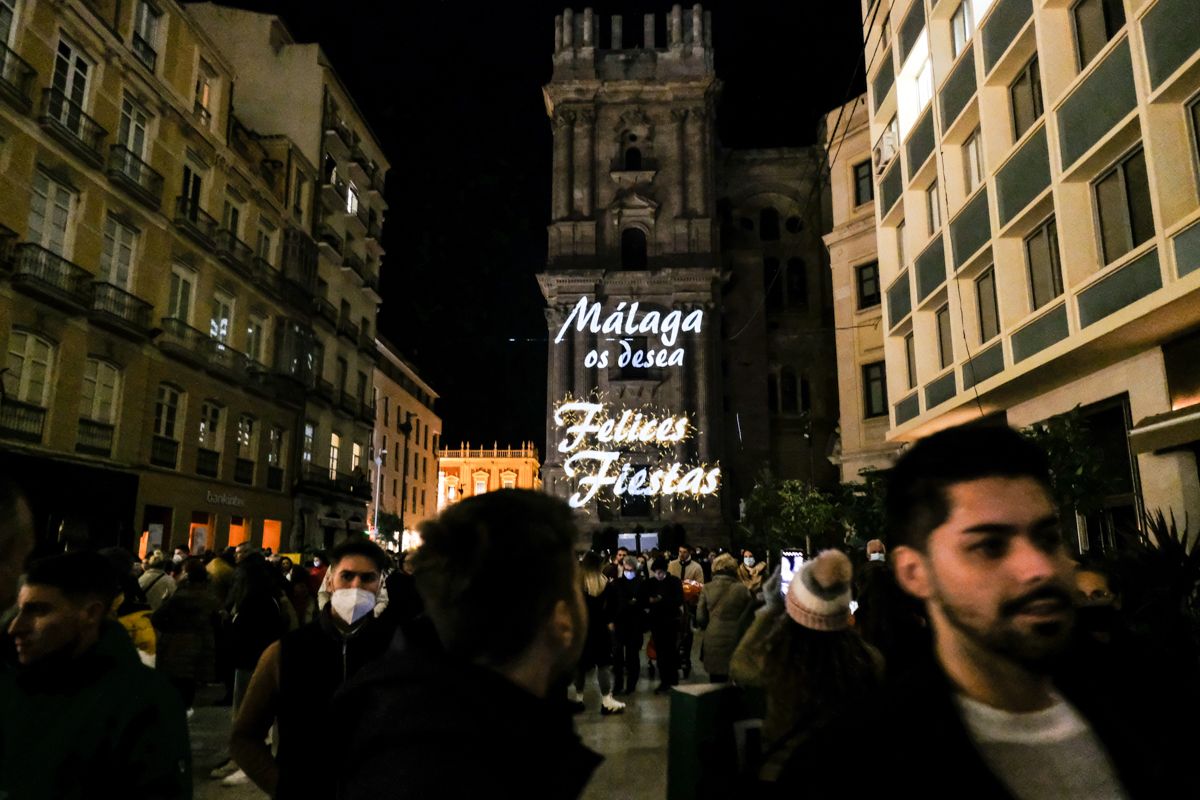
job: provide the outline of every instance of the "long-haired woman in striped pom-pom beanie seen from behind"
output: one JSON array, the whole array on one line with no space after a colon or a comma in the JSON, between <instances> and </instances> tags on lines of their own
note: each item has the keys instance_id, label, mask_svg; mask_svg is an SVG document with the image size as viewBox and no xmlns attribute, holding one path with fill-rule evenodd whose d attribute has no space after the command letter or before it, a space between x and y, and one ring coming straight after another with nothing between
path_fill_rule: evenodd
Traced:
<instances>
[{"instance_id":1,"label":"long-haired woman in striped pom-pom beanie seen from behind","mask_svg":"<svg viewBox=\"0 0 1200 800\"><path fill-rule=\"evenodd\" d=\"M806 738L877 688L883 657L850 627L853 567L824 551L780 595L779 570L763 584L766 606L733 652L734 682L767 692L760 778L774 781Z\"/></svg>"}]
</instances>

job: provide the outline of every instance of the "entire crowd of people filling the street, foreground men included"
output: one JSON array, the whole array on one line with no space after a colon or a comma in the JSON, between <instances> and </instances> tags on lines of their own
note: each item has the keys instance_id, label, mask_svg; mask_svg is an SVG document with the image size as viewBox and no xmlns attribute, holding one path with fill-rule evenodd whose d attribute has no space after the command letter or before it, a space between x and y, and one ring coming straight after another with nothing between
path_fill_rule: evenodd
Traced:
<instances>
[{"instance_id":1,"label":"entire crowd of people filling the street, foreground men included","mask_svg":"<svg viewBox=\"0 0 1200 800\"><path fill-rule=\"evenodd\" d=\"M1008 428L935 434L890 470L860 566L826 551L785 588L750 551L581 557L572 511L524 491L451 506L400 559L352 537L300 563L248 542L26 563L30 507L0 482L0 796L192 796L212 684L230 758L209 780L577 798L602 760L572 722L589 682L628 714L643 676L688 678L694 634L697 679L764 697L737 796L1200 796L1196 675L1068 558L1049 487Z\"/></svg>"}]
</instances>

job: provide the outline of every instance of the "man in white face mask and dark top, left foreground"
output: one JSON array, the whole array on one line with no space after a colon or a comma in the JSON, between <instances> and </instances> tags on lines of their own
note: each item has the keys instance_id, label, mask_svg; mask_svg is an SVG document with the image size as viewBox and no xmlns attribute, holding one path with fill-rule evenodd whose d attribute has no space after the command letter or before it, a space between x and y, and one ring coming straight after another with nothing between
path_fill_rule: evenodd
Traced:
<instances>
[{"instance_id":1,"label":"man in white face mask and dark top, left foreground","mask_svg":"<svg viewBox=\"0 0 1200 800\"><path fill-rule=\"evenodd\" d=\"M378 616L386 554L353 539L329 557L332 594L317 619L266 648L246 690L230 752L272 798L332 798L335 776L313 769L328 759L331 699L352 675L384 654L395 624ZM378 607L377 607L378 606ZM277 723L277 754L265 744Z\"/></svg>"}]
</instances>

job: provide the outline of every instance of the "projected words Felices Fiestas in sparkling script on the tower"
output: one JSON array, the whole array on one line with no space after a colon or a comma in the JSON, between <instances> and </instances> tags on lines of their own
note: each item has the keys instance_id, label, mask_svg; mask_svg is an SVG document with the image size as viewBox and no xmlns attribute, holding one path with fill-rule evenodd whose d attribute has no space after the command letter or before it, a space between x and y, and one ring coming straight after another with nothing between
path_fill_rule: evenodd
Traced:
<instances>
[{"instance_id":1,"label":"projected words Felices Fiestas in sparkling script on the tower","mask_svg":"<svg viewBox=\"0 0 1200 800\"><path fill-rule=\"evenodd\" d=\"M586 401L566 397L554 407L554 426L562 431L558 452L566 477L577 481L577 491L568 503L581 509L592 500L619 500L631 497L713 495L720 487L718 464L684 464L670 461L673 449L695 431L686 415L672 415L653 408L612 409L602 397ZM641 447L659 450L656 465L635 465L630 456L647 452L623 452Z\"/></svg>"}]
</instances>

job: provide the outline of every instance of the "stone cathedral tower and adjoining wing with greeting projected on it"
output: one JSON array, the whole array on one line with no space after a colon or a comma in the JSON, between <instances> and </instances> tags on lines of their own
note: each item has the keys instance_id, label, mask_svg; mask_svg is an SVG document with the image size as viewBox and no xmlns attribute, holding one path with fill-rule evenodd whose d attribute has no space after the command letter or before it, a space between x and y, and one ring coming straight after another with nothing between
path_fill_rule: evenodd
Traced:
<instances>
[{"instance_id":1,"label":"stone cathedral tower and adjoining wing with greeting projected on it","mask_svg":"<svg viewBox=\"0 0 1200 800\"><path fill-rule=\"evenodd\" d=\"M556 18L539 282L546 489L716 543L762 469L833 480L836 384L818 152L721 151L713 59L700 6Z\"/></svg>"}]
</instances>

